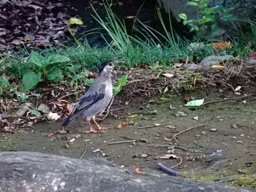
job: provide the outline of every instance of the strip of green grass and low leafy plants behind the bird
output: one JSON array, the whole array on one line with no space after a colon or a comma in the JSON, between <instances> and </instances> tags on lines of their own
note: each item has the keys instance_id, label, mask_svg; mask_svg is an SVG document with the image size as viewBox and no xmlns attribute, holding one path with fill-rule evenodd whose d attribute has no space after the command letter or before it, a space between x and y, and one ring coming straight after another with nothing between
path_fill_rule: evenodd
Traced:
<instances>
[{"instance_id":1,"label":"strip of green grass and low leafy plants behind the bird","mask_svg":"<svg viewBox=\"0 0 256 192\"><path fill-rule=\"evenodd\" d=\"M108 4L105 5L105 9L107 13L105 20L97 14L95 9L94 18L108 34L108 38L102 34L108 44L106 47L93 47L86 41L82 43L73 36L75 40L73 46L63 49L46 47L45 50L35 50L38 53L36 61L31 58L31 53L26 48L20 48L18 52L12 51L1 54L0 72L4 75L0 78L0 93L7 91L10 87L28 91L34 88L39 81L59 82L67 80L71 84L85 82L86 73L84 69L96 70L97 66L105 60L125 61L127 68L139 63L153 66L156 61L159 61L162 66L172 66L180 59L192 61L194 55L201 59L208 55L232 54L234 56L244 56L252 53L252 47L255 47L255 45L252 45L253 42L251 47L246 42L248 35L241 34L239 38L233 39L234 46L229 49L216 51L206 46L203 50L191 51L187 49L190 42L187 39L181 39L173 31L170 15L168 23L170 29L167 29L159 9L157 9L157 13L165 34L160 34L154 28L147 26L136 18L135 22L140 25L134 26L140 26L140 28L132 28L132 31L136 31L139 36L127 34L125 23L117 18ZM255 34L255 23L249 22L249 26L252 34ZM91 33L97 33L97 31L91 30L89 34ZM107 40L109 37L112 39L111 42ZM200 42L200 39L195 39L193 42ZM54 55L59 55L59 61L58 58L50 61L50 58L53 58ZM42 60L49 64L42 67L40 64ZM52 69L53 67L55 70ZM35 82L26 86L26 82L30 81L31 77Z\"/></svg>"}]
</instances>

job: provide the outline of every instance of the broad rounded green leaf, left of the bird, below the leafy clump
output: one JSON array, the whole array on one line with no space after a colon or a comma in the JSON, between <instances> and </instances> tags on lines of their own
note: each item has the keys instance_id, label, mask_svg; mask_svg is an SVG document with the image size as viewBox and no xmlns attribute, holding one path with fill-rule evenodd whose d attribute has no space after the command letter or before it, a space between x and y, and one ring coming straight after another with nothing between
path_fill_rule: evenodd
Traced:
<instances>
[{"instance_id":1,"label":"broad rounded green leaf, left of the bird, below the leafy clump","mask_svg":"<svg viewBox=\"0 0 256 192\"><path fill-rule=\"evenodd\" d=\"M34 72L27 72L23 75L23 85L20 87L22 91L28 91L33 88L40 81L41 74L35 74Z\"/></svg>"}]
</instances>

